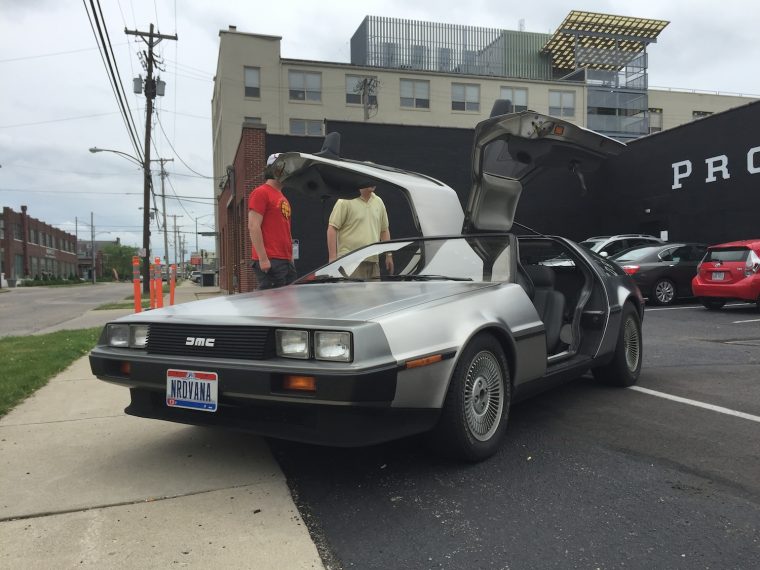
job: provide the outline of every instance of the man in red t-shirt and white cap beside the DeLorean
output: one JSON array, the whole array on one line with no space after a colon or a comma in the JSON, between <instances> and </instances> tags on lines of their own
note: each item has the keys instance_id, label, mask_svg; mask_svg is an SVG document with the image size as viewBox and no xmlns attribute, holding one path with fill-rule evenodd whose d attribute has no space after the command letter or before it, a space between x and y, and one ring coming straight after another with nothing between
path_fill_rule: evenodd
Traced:
<instances>
[{"instance_id":1,"label":"man in red t-shirt and white cap beside the DeLorean","mask_svg":"<svg viewBox=\"0 0 760 570\"><path fill-rule=\"evenodd\" d=\"M290 202L283 195L282 184L273 170L278 156L269 156L264 171L266 181L248 197L248 231L253 245L256 289L282 287L297 277L290 234Z\"/></svg>"}]
</instances>

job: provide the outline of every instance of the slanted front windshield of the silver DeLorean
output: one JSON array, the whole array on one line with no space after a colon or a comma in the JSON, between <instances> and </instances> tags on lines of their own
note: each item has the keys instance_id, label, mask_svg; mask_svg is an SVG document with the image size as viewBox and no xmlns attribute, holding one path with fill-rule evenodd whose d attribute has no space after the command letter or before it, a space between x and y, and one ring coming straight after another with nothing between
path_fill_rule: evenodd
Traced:
<instances>
[{"instance_id":1,"label":"slanted front windshield of the silver DeLorean","mask_svg":"<svg viewBox=\"0 0 760 570\"><path fill-rule=\"evenodd\" d=\"M506 234L379 242L344 255L297 283L511 281L509 244Z\"/></svg>"}]
</instances>

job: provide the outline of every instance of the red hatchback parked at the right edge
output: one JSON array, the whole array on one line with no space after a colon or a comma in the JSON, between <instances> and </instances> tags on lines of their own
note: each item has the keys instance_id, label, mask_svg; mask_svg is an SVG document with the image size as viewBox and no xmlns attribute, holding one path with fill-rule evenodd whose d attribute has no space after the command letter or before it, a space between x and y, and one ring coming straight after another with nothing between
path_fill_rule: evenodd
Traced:
<instances>
[{"instance_id":1,"label":"red hatchback parked at the right edge","mask_svg":"<svg viewBox=\"0 0 760 570\"><path fill-rule=\"evenodd\" d=\"M720 309L730 299L757 303L760 310L760 239L710 246L691 288L711 310Z\"/></svg>"}]
</instances>

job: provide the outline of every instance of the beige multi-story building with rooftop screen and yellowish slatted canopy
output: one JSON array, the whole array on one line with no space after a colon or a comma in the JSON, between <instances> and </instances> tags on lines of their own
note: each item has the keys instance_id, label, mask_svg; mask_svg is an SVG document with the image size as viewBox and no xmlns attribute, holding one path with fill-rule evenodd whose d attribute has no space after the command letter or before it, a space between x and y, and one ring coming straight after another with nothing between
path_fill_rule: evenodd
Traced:
<instances>
[{"instance_id":1,"label":"beige multi-story building with rooftop screen and yellowish slatted canopy","mask_svg":"<svg viewBox=\"0 0 760 570\"><path fill-rule=\"evenodd\" d=\"M325 120L471 129L496 99L623 141L757 98L650 89L647 46L664 20L572 11L553 34L367 16L351 62L283 59L278 36L219 32L214 176L244 122L324 135Z\"/></svg>"}]
</instances>

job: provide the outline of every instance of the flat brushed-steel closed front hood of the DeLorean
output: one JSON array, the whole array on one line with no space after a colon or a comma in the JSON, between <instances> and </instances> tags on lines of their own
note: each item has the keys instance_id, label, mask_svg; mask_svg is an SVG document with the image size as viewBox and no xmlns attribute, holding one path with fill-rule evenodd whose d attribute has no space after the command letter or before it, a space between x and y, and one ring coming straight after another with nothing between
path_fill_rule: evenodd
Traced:
<instances>
[{"instance_id":1,"label":"flat brushed-steel closed front hood of the DeLorean","mask_svg":"<svg viewBox=\"0 0 760 570\"><path fill-rule=\"evenodd\" d=\"M128 315L119 321L237 326L373 321L402 309L493 286L456 281L312 283L193 301Z\"/></svg>"}]
</instances>

